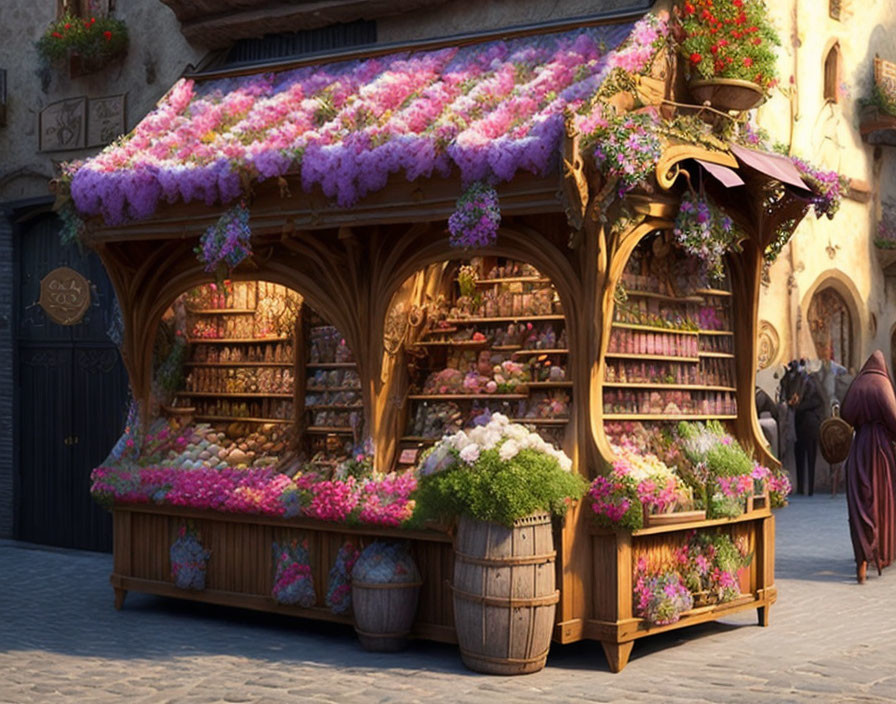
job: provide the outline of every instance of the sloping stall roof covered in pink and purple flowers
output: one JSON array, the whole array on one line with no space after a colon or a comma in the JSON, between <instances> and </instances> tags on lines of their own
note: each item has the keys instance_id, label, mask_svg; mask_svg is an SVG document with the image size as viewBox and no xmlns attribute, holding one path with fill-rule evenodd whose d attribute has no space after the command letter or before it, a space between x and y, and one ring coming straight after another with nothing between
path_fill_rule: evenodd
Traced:
<instances>
[{"instance_id":1,"label":"sloping stall roof covered in pink and purple flowers","mask_svg":"<svg viewBox=\"0 0 896 704\"><path fill-rule=\"evenodd\" d=\"M637 72L655 20L401 52L276 73L183 79L128 135L68 165L82 215L114 225L160 203L227 203L246 177L300 173L341 206L408 180L508 181L557 168L564 110L586 111L613 67ZM629 39L629 41L626 41Z\"/></svg>"}]
</instances>

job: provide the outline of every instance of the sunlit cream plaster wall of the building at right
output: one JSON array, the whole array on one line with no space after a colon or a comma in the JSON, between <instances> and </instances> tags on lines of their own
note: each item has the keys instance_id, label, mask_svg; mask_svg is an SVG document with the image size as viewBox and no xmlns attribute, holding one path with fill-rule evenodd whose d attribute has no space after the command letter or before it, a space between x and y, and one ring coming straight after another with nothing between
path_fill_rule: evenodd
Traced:
<instances>
[{"instance_id":1,"label":"sunlit cream plaster wall of the building at right","mask_svg":"<svg viewBox=\"0 0 896 704\"><path fill-rule=\"evenodd\" d=\"M896 323L896 291L889 290L874 248L879 201L896 196L896 161L890 148L878 150L859 135L860 99L870 96L875 54L896 59L896 0L848 3L841 21L831 19L827 0L769 3L783 46L781 85L757 111L772 141L843 176L864 181L868 202L845 199L833 220L814 214L770 269L759 317L777 330L781 346L773 367L794 357L815 358L806 317L812 294L832 284L853 310L853 362L861 366L876 348L890 356L890 329ZM824 99L824 61L834 43L841 50L841 92L837 103ZM772 372L760 383L772 392Z\"/></svg>"}]
</instances>

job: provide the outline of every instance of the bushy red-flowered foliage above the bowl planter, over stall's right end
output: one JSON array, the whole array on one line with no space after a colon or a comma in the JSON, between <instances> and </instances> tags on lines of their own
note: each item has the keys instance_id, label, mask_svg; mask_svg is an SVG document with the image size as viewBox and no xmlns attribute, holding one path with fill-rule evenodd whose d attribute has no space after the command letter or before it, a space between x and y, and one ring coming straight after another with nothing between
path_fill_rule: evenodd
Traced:
<instances>
[{"instance_id":1,"label":"bushy red-flowered foliage above the bowl planter, over stall's right end","mask_svg":"<svg viewBox=\"0 0 896 704\"><path fill-rule=\"evenodd\" d=\"M768 95L777 84L778 34L763 0L682 0L679 51L692 78L736 78Z\"/></svg>"}]
</instances>

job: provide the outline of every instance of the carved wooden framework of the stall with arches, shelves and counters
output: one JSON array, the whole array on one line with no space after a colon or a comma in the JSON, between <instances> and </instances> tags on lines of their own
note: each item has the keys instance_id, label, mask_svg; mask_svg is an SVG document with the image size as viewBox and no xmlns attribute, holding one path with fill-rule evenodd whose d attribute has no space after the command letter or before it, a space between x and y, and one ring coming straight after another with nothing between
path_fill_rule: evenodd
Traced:
<instances>
[{"instance_id":1,"label":"carved wooden framework of the stall with arches, shelves and counters","mask_svg":"<svg viewBox=\"0 0 896 704\"><path fill-rule=\"evenodd\" d=\"M552 32L595 33L615 37L618 45L630 25L616 22L595 21L584 28L577 23ZM543 40L533 32L502 38ZM464 44L471 50L488 49L490 41L496 39L477 37ZM438 52L445 45L425 49ZM302 65L276 70L287 69L302 70ZM220 91L221 85L237 90L243 78L232 72L193 80L211 82ZM633 91L642 102L668 100L671 106L685 101L672 57L664 56L654 75L641 78L641 87ZM562 139L562 172L557 166L540 175L518 170L501 183L497 240L467 251L451 247L446 232L461 192L456 169L413 181L394 174L384 187L345 206L334 204L320 186L303 190L303 175L296 170L266 180L259 176L251 184L254 254L231 278L237 287L261 285L256 282L280 287L271 288L271 296L294 292L301 301L295 327L270 342L257 340L257 333L244 338L233 330L220 341L191 340L187 359L193 386L181 389L183 399L174 408L196 408L196 420L209 423L288 424L291 434L280 448L284 456L292 452L308 459L326 451L326 442L322 447L315 434L337 436L337 441L340 433L353 435L353 440L369 436L381 471L413 466L420 450L441 433L486 408L503 411L558 443L572 458L574 471L588 479L605 472L613 459L609 435L616 431L609 426L630 421L717 419L757 459L775 464L760 440L753 399L760 276L766 247L786 237L805 214L806 189L786 182L775 169L787 170L771 155L745 155L750 150L735 150L717 139L688 141L666 134L650 187L629 193L623 210L618 199L607 198L607 181L590 152L580 147L571 117ZM707 169L736 172L742 185L729 188L707 175ZM656 253L668 244L664 233L673 227L688 181L698 179L745 235L741 251L726 257L724 281L715 288L695 281L677 285L670 271L687 268L686 262L663 261L665 255ZM95 218L85 235L118 294L125 321L122 354L144 423L154 408L153 341L160 321L185 292L207 292L202 287L208 286L210 275L193 249L219 215L218 207L179 202L126 223ZM478 306L464 300L456 283L461 266L473 270L472 285L481 294ZM628 292L625 306L617 303L620 284ZM242 303L237 299L237 307L194 312L212 319L249 315L261 301L257 294L254 300L246 296ZM695 304L718 311L718 329L660 332L637 319L639 311L654 311L657 305L686 311ZM312 356L315 335L336 335L345 356ZM274 350L249 351L271 343ZM229 359L220 352L209 358L209 348L225 344L232 348ZM240 356L235 357L237 348ZM428 383L440 372L478 359L486 366L505 361L525 365L531 378L520 389L497 394L484 389L440 392L438 383ZM196 385L200 370L227 372L247 363L290 373L279 373L275 391ZM645 363L665 365L659 375L663 380L657 380L655 368L645 370ZM345 381L348 370L351 383ZM315 382L319 372L323 381ZM330 384L329 372L342 375ZM251 377L249 383L260 382ZM352 395L308 402L309 395L328 391ZM261 399L251 394L274 396L265 399L267 405L252 407ZM229 412L215 405L222 399L230 402ZM274 410L272 401L283 405ZM337 411L345 419L351 413L352 420L315 420L316 412ZM249 432L260 431L255 426L243 431ZM318 459L327 461L325 456ZM587 500L580 502L555 525L560 600L554 641L600 641L615 672L625 666L636 639L668 628L744 609L756 609L760 624L767 625L776 599L774 517L767 501L751 503L749 509L732 519L625 531L596 527ZM157 503L119 501L112 510L111 581L118 607L127 591L141 591L350 622L350 616L333 614L320 596L311 606L278 605L270 596L271 544L305 541L314 582L320 585L326 584L346 541L401 538L411 541L423 582L413 633L456 641L447 584L454 563L449 533ZM201 591L172 583L169 547L184 520L197 527L212 555ZM669 626L649 627L635 617L632 574L638 555L670 550L687 531L717 527L744 538L754 554L741 579L742 596L696 608Z\"/></svg>"}]
</instances>

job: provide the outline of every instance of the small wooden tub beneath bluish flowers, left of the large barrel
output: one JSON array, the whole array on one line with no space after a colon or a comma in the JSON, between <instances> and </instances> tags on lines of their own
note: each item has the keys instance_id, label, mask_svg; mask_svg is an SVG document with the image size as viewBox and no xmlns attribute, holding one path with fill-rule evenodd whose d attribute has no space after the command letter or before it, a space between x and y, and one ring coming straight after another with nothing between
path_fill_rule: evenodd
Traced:
<instances>
[{"instance_id":1,"label":"small wooden tub beneath bluish flowers, left of the large barrel","mask_svg":"<svg viewBox=\"0 0 896 704\"><path fill-rule=\"evenodd\" d=\"M407 646L421 584L352 581L355 633L365 650L391 653Z\"/></svg>"}]
</instances>

